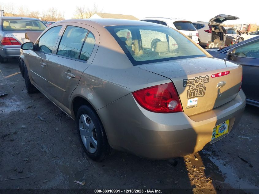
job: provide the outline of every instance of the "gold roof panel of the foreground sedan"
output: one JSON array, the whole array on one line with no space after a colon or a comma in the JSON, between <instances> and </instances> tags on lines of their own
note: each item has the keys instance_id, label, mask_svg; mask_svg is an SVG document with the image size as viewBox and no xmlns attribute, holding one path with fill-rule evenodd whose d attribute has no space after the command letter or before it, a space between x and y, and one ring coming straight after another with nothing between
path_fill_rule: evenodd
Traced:
<instances>
[{"instance_id":1,"label":"gold roof panel of the foreground sedan","mask_svg":"<svg viewBox=\"0 0 259 194\"><path fill-rule=\"evenodd\" d=\"M146 22L146 21L138 21L138 20L126 20L126 19L71 19L71 20L62 20L62 21L57 21L55 24L59 23L66 23L66 22L76 22L76 23L81 23L81 24L86 24L86 25L91 25L92 27L97 27L97 26L116 26L116 25L148 25L148 26L164 26L161 24L155 24L151 22ZM166 26L164 26L166 27Z\"/></svg>"}]
</instances>

